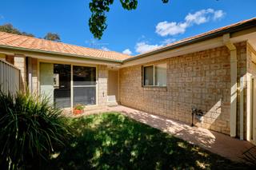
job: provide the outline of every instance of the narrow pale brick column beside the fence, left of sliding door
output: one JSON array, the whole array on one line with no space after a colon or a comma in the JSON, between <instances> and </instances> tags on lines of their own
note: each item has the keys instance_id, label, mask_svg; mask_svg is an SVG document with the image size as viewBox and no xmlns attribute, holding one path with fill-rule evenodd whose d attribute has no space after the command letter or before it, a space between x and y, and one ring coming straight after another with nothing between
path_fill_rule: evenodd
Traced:
<instances>
[{"instance_id":1,"label":"narrow pale brick column beside the fence, left of sliding door","mask_svg":"<svg viewBox=\"0 0 256 170\"><path fill-rule=\"evenodd\" d=\"M20 75L20 90L26 89L26 57L14 56L14 65L21 70Z\"/></svg>"}]
</instances>

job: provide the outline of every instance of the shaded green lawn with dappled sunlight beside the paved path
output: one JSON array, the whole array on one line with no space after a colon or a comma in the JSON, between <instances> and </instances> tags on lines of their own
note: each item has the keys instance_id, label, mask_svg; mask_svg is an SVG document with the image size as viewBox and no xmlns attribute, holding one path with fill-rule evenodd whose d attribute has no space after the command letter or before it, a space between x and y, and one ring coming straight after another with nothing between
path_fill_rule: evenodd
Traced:
<instances>
[{"instance_id":1,"label":"shaded green lawn with dappled sunlight beside the paved path","mask_svg":"<svg viewBox=\"0 0 256 170\"><path fill-rule=\"evenodd\" d=\"M120 113L70 119L73 137L47 169L238 169L230 160Z\"/></svg>"}]
</instances>

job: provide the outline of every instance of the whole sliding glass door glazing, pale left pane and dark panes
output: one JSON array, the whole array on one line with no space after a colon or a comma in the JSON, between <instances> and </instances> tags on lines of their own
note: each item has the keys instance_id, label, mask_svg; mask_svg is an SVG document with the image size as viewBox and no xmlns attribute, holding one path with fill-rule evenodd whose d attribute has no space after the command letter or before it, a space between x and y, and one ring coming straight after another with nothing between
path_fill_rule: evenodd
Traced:
<instances>
[{"instance_id":1,"label":"whole sliding glass door glazing, pale left pane and dark panes","mask_svg":"<svg viewBox=\"0 0 256 170\"><path fill-rule=\"evenodd\" d=\"M58 108L96 105L96 67L40 63L40 89Z\"/></svg>"}]
</instances>

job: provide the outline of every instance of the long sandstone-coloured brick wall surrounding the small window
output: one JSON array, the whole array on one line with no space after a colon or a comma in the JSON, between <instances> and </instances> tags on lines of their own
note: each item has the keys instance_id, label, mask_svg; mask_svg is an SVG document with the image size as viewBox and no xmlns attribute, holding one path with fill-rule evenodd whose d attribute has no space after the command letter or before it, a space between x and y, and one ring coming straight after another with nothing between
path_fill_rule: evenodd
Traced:
<instances>
[{"instance_id":1,"label":"long sandstone-coloured brick wall surrounding the small window","mask_svg":"<svg viewBox=\"0 0 256 170\"><path fill-rule=\"evenodd\" d=\"M238 48L238 75L246 73L246 42ZM122 105L191 123L191 107L202 109L204 121L196 125L230 133L230 52L208 49L154 63L167 63L167 86L142 87L142 65L120 70ZM148 65L150 63L146 63Z\"/></svg>"}]
</instances>

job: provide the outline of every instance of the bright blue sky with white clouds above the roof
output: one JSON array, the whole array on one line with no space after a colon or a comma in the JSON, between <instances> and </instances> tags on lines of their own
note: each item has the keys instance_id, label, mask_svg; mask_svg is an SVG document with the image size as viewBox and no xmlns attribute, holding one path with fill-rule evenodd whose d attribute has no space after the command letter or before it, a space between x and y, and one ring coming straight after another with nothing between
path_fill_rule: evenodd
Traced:
<instances>
[{"instance_id":1,"label":"bright blue sky with white clouds above the roof","mask_svg":"<svg viewBox=\"0 0 256 170\"><path fill-rule=\"evenodd\" d=\"M94 41L88 27L90 0L1 1L0 25L11 23L38 38L54 32L62 42L131 55L256 17L255 0L138 0L133 11L115 0L102 40Z\"/></svg>"}]
</instances>

